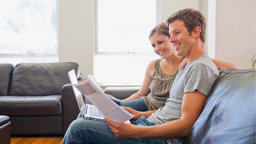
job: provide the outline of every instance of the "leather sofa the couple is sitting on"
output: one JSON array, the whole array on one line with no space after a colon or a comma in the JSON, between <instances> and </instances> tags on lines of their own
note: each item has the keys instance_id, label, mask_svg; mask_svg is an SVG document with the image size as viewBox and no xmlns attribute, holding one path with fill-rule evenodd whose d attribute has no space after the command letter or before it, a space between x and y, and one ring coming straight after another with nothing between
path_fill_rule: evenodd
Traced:
<instances>
[{"instance_id":1,"label":"leather sofa the couple is sitting on","mask_svg":"<svg viewBox=\"0 0 256 144\"><path fill-rule=\"evenodd\" d=\"M255 144L255 69L222 69L185 144ZM139 88L107 87L124 99Z\"/></svg>"}]
</instances>

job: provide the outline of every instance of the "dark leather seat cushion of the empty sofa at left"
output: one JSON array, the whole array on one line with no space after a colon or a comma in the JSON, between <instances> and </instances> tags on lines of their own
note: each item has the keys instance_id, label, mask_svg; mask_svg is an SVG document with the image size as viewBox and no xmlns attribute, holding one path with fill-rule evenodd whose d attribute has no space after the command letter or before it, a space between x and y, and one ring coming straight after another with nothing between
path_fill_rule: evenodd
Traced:
<instances>
[{"instance_id":1,"label":"dark leather seat cushion of the empty sofa at left","mask_svg":"<svg viewBox=\"0 0 256 144\"><path fill-rule=\"evenodd\" d=\"M61 95L0 96L0 114L8 116L61 115Z\"/></svg>"}]
</instances>

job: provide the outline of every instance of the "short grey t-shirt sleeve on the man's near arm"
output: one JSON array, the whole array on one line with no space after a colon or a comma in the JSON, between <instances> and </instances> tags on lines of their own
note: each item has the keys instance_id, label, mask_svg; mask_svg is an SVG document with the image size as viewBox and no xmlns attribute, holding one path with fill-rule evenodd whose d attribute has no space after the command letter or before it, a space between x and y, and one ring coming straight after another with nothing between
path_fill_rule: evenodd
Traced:
<instances>
[{"instance_id":1,"label":"short grey t-shirt sleeve on the man's near arm","mask_svg":"<svg viewBox=\"0 0 256 144\"><path fill-rule=\"evenodd\" d=\"M196 63L188 69L183 80L184 93L198 90L208 96L216 77L216 74L208 66Z\"/></svg>"}]
</instances>

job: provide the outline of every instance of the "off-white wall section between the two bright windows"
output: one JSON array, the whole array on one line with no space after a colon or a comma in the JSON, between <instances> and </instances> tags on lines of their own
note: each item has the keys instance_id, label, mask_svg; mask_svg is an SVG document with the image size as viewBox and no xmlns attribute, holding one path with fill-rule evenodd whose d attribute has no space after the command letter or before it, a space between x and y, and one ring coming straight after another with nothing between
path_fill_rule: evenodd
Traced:
<instances>
[{"instance_id":1,"label":"off-white wall section between the two bright windows","mask_svg":"<svg viewBox=\"0 0 256 144\"><path fill-rule=\"evenodd\" d=\"M76 62L83 78L93 74L94 2L58 0L59 62Z\"/></svg>"}]
</instances>

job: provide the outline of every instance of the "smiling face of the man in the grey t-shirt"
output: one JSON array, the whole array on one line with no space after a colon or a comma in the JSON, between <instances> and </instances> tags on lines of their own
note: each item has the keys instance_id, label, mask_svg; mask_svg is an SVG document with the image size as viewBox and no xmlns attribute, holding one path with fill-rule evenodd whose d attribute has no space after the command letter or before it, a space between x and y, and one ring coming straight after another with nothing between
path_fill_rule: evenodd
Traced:
<instances>
[{"instance_id":1,"label":"smiling face of the man in the grey t-shirt","mask_svg":"<svg viewBox=\"0 0 256 144\"><path fill-rule=\"evenodd\" d=\"M194 32L191 34L193 35ZM195 39L187 31L182 20L175 20L169 24L170 42L173 43L178 56L187 56L194 46Z\"/></svg>"}]
</instances>

